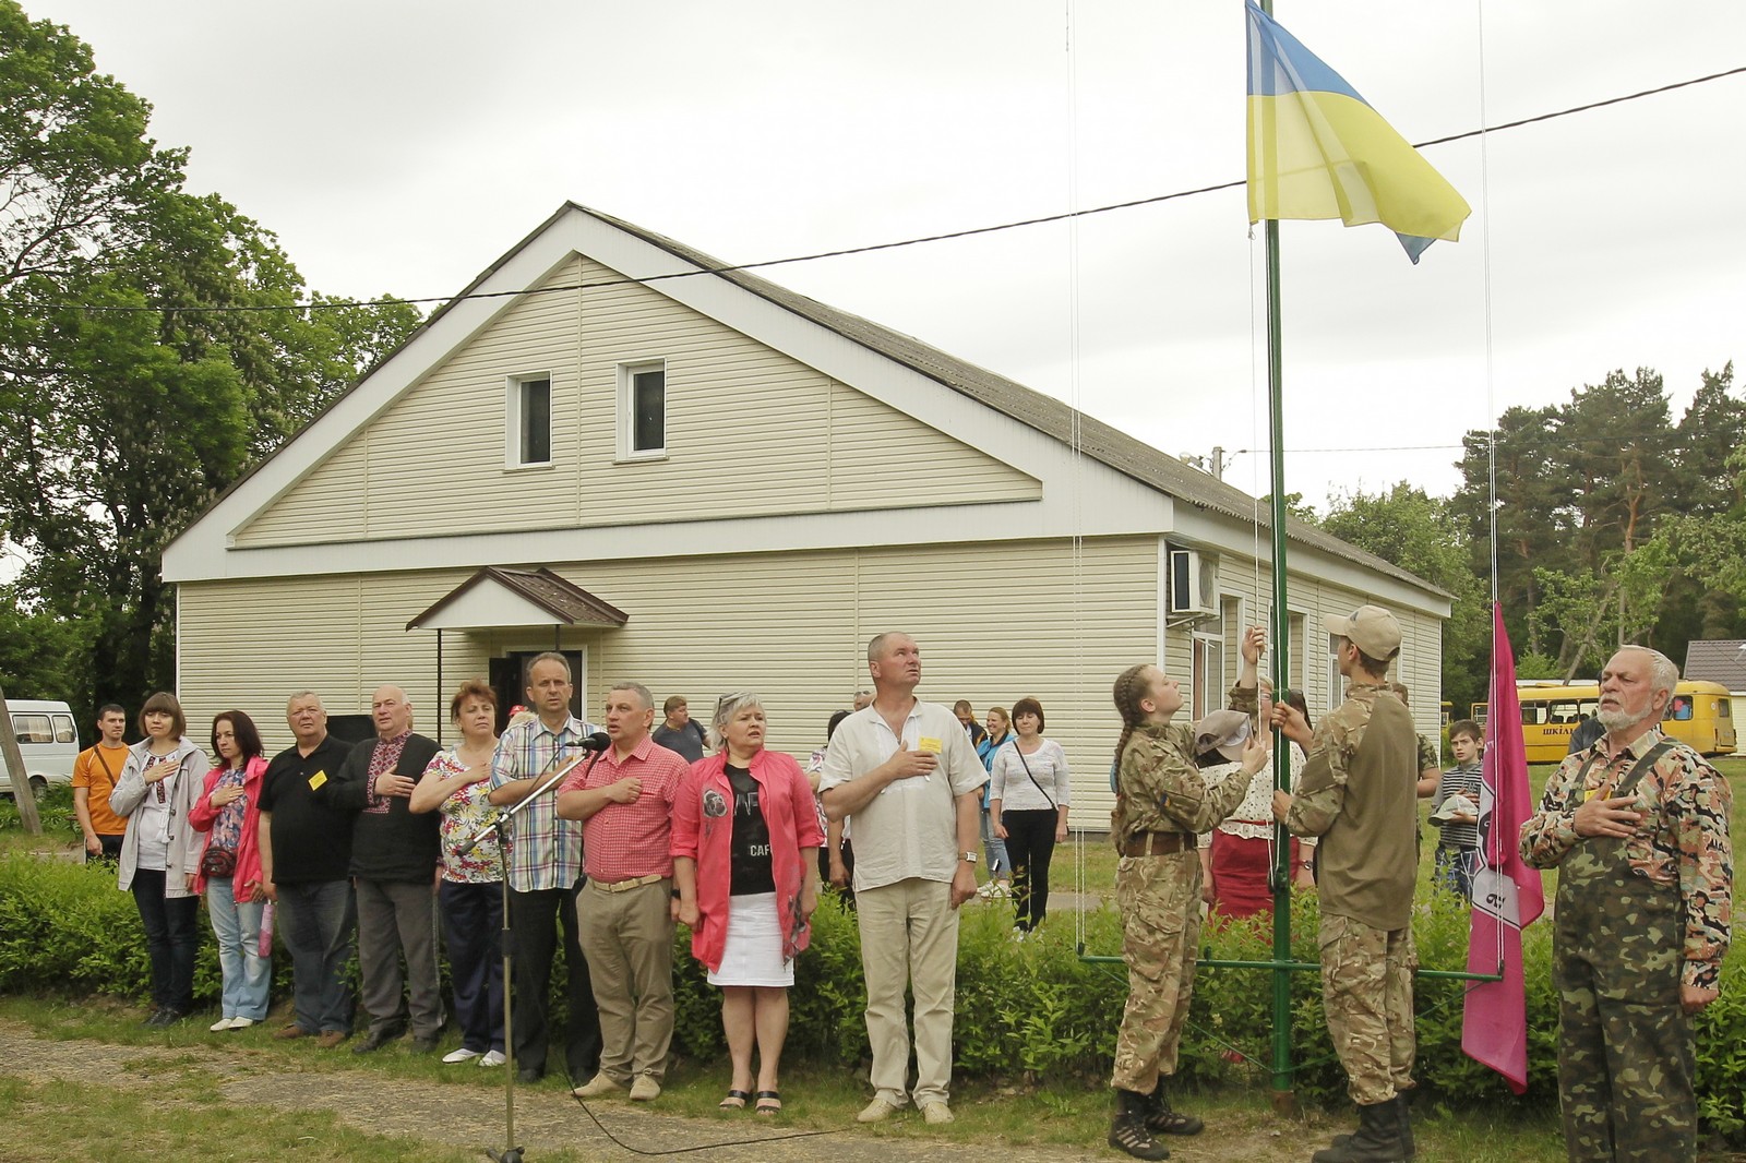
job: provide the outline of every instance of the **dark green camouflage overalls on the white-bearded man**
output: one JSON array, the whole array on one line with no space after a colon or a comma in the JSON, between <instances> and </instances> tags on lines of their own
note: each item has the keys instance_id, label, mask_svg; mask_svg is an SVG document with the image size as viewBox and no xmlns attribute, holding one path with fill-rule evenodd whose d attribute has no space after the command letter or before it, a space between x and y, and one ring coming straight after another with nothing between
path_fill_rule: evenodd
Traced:
<instances>
[{"instance_id":1,"label":"dark green camouflage overalls on the white-bearded man","mask_svg":"<svg viewBox=\"0 0 1746 1163\"><path fill-rule=\"evenodd\" d=\"M1617 793L1615 793L1617 795ZM1680 1006L1685 910L1622 840L1559 866L1552 929L1557 1100L1571 1160L1695 1160L1692 1023Z\"/></svg>"}]
</instances>

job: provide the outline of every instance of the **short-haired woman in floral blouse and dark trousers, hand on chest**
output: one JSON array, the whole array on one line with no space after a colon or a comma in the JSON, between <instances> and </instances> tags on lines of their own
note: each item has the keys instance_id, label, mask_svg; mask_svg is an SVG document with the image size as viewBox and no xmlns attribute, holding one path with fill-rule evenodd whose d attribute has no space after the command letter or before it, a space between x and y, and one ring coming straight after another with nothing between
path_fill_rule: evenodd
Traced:
<instances>
[{"instance_id":1,"label":"short-haired woman in floral blouse and dark trousers, hand on chest","mask_svg":"<svg viewBox=\"0 0 1746 1163\"><path fill-rule=\"evenodd\" d=\"M498 749L498 695L480 679L468 679L449 700L449 718L461 730L461 740L436 753L407 803L414 812L442 812L442 887L436 903L449 946L454 1013L461 1023L461 1048L443 1062L478 1058L478 1065L503 1065L503 864L498 838L491 836L461 854L461 845L498 817L498 809L485 800L491 793L491 756Z\"/></svg>"}]
</instances>

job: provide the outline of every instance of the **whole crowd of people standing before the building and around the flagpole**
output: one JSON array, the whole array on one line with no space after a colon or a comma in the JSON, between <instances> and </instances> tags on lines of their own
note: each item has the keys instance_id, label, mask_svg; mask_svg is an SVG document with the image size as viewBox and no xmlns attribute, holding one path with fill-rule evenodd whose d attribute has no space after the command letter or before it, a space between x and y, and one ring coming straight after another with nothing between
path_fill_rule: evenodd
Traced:
<instances>
[{"instance_id":1,"label":"whole crowd of people standing before the building and around the flagpole","mask_svg":"<svg viewBox=\"0 0 1746 1163\"><path fill-rule=\"evenodd\" d=\"M1110 838L1130 992L1109 1142L1135 1158L1163 1160L1165 1135L1201 1130L1168 1083L1203 912L1271 908L1275 822L1292 836L1290 880L1320 898L1323 1009L1360 1116L1315 1160L1414 1156L1416 802L1433 798L1437 882L1468 896L1482 735L1454 723L1454 765L1437 770L1404 688L1385 678L1400 650L1395 618L1362 606L1327 629L1348 688L1315 726L1301 692L1275 698L1259 676L1261 629L1243 636L1227 707L1198 723L1179 721L1184 693L1156 665L1114 683ZM683 697L656 712L646 686L618 683L597 730L571 712L560 653L529 664L527 705L501 737L496 692L463 683L447 747L412 730L414 707L391 685L372 697L375 739L354 747L327 732L318 693L293 693L295 744L271 760L244 712L213 719L208 753L176 698L155 693L133 746L126 712L100 711L101 739L75 770L77 814L86 850L115 863L134 896L148 1025L192 1011L204 896L223 974L215 1032L265 1018L276 912L293 969L292 1020L276 1037L337 1048L361 1001L354 1053L402 1036L433 1051L445 1023L440 919L461 1032L443 1062L513 1060L533 1083L559 1043L583 1098L660 1097L683 924L721 990L732 1060L721 1109L779 1112L794 959L821 882L838 884L859 926L873 1058L857 1119L913 1104L948 1123L959 908L978 892L1011 898L1014 939L1042 924L1072 774L1035 698L985 721L967 702L917 698L920 648L906 634L870 643L868 674L871 690L831 716L805 768L765 746L751 692L725 695L705 730ZM1615 653L1601 676L1605 733L1573 747L1521 833L1524 861L1563 871L1554 976L1571 1158L1695 1158L1690 1016L1715 1001L1729 946L1730 800L1713 767L1659 732L1676 681L1657 651ZM1273 732L1290 749L1290 791L1262 779ZM505 899L513 981L503 980ZM346 976L353 946L360 999ZM559 962L567 1020L553 1030Z\"/></svg>"}]
</instances>

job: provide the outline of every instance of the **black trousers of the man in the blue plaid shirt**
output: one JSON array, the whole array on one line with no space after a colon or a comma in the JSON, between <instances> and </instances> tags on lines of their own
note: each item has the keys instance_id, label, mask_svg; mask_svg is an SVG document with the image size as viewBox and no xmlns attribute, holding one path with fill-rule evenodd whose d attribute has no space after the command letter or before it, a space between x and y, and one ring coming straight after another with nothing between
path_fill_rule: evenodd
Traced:
<instances>
[{"instance_id":1,"label":"black trousers of the man in the blue plaid shirt","mask_svg":"<svg viewBox=\"0 0 1746 1163\"><path fill-rule=\"evenodd\" d=\"M594 1006L588 960L581 955L576 896L583 880L567 889L510 891L510 938L515 945L515 1069L545 1070L550 1043L552 960L557 931L564 929L564 1065L581 1086L601 1069L601 1011Z\"/></svg>"}]
</instances>

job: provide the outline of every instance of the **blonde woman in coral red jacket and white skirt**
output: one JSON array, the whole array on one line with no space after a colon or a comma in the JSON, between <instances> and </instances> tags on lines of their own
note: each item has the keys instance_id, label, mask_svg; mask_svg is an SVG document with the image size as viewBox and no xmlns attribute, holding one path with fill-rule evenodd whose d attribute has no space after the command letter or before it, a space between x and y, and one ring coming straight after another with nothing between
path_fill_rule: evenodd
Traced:
<instances>
[{"instance_id":1,"label":"blonde woman in coral red jacket and white skirt","mask_svg":"<svg viewBox=\"0 0 1746 1163\"><path fill-rule=\"evenodd\" d=\"M672 875L691 955L721 987L733 1081L723 1111L744 1111L758 1049L758 1114L782 1109L777 1069L787 1039L787 987L819 905L824 833L800 765L765 751L758 695L716 704L716 754L691 765L672 805Z\"/></svg>"}]
</instances>

